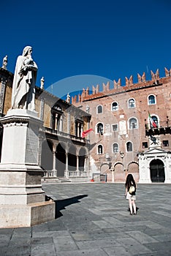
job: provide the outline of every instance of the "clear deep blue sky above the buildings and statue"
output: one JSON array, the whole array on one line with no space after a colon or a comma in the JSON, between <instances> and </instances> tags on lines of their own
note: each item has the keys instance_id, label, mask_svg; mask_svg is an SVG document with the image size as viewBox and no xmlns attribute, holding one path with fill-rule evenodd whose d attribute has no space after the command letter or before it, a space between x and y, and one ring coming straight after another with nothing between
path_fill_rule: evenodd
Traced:
<instances>
[{"instance_id":1,"label":"clear deep blue sky above the buildings and statue","mask_svg":"<svg viewBox=\"0 0 171 256\"><path fill-rule=\"evenodd\" d=\"M44 76L58 97L102 80L121 78L124 85L133 75L136 83L137 73L150 80L158 68L163 77L171 67L170 0L9 0L0 6L1 63L7 55L14 72L18 55L31 45L37 86Z\"/></svg>"}]
</instances>

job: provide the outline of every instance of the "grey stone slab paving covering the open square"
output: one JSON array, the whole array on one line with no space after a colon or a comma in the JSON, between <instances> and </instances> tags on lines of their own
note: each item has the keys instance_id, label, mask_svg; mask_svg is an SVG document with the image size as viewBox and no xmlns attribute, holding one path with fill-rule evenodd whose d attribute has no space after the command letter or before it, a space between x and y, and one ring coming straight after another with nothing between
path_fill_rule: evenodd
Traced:
<instances>
[{"instance_id":1,"label":"grey stone slab paving covering the open square","mask_svg":"<svg viewBox=\"0 0 171 256\"><path fill-rule=\"evenodd\" d=\"M124 184L43 184L56 219L0 229L0 256L169 256L171 185L138 184L130 216Z\"/></svg>"}]
</instances>

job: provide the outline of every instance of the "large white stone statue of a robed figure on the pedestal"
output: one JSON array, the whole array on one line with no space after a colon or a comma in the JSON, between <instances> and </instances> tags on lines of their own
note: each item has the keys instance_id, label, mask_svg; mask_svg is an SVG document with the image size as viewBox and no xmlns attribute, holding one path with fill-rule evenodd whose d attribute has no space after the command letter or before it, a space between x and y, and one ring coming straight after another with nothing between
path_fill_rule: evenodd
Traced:
<instances>
[{"instance_id":1,"label":"large white stone statue of a robed figure on the pedestal","mask_svg":"<svg viewBox=\"0 0 171 256\"><path fill-rule=\"evenodd\" d=\"M18 56L12 84L12 107L35 110L35 83L37 64L31 57L32 48L26 46L22 56Z\"/></svg>"}]
</instances>

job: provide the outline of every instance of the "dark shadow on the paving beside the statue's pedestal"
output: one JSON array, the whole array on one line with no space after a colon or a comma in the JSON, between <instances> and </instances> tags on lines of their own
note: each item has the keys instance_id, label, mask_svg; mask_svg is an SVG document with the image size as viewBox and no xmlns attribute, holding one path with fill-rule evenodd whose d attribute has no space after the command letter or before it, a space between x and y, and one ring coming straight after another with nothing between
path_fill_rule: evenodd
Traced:
<instances>
[{"instance_id":1,"label":"dark shadow on the paving beside the statue's pedestal","mask_svg":"<svg viewBox=\"0 0 171 256\"><path fill-rule=\"evenodd\" d=\"M56 203L56 218L63 216L61 210L65 210L66 206L70 206L73 203L80 203L80 199L83 197L88 197L88 195L77 195L76 197L71 197L63 200L55 200Z\"/></svg>"}]
</instances>

